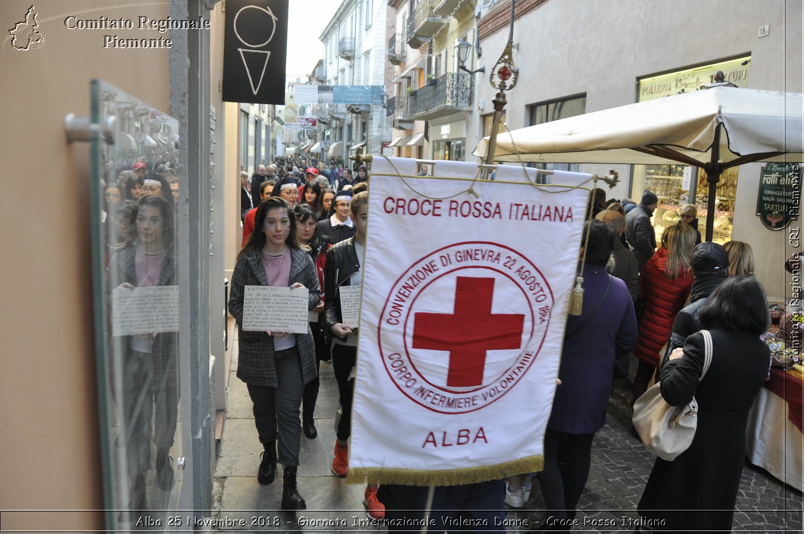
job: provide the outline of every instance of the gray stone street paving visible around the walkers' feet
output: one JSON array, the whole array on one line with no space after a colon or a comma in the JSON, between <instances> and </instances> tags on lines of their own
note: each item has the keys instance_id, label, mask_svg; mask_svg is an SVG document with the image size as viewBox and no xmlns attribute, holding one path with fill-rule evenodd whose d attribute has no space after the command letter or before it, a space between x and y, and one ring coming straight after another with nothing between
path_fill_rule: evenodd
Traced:
<instances>
[{"instance_id":1,"label":"gray stone street paving visible around the walkers' feet","mask_svg":"<svg viewBox=\"0 0 804 534\"><path fill-rule=\"evenodd\" d=\"M256 482L262 448L257 441L252 405L245 385L236 378L237 346L233 341L224 434L217 447L215 501L212 519L223 531L385 532L367 520L363 487L347 486L330 470L338 388L332 368L322 364L321 392L316 406L318 437L301 437L298 486L307 511L277 511L281 472L269 486ZM589 482L581 496L573 532L634 532L636 505L654 456L630 435L630 385L616 380L608 420L595 437ZM509 509L508 532L527 532L542 519L544 500L534 481L523 508ZM757 467L746 464L734 516L734 532L802 532L802 493L786 487ZM585 526L584 526L585 525ZM413 531L411 531L413 532ZM418 530L416 530L418 532ZM433 530L429 532L435 532Z\"/></svg>"}]
</instances>

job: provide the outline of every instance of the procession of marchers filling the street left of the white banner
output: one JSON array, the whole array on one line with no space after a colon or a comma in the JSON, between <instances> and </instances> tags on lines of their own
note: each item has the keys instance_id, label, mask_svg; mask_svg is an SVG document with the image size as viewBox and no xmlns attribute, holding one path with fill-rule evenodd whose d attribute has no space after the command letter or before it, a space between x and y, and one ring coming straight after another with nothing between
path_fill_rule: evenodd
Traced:
<instances>
[{"instance_id":1,"label":"procession of marchers filling the street left of the white banner","mask_svg":"<svg viewBox=\"0 0 804 534\"><path fill-rule=\"evenodd\" d=\"M336 166L334 161L327 166L293 158L259 165L250 179L245 170L240 171L243 249L229 295L229 310L240 325L237 376L248 385L257 433L264 446L258 481L272 483L277 463L284 466L283 509L306 509L296 483L299 440L301 433L309 439L318 437L314 410L319 389L317 370L322 361L333 366L341 413L332 471L342 478L349 473L352 370L358 331L340 317L338 288L360 285L362 280L367 175L365 165L356 166L353 177L352 170ZM259 202L252 192L259 195ZM301 279L300 273L314 276ZM245 286L289 283L310 291L308 332L243 331ZM297 365L293 367L290 362ZM367 484L363 504L369 516L381 520L385 509L377 498L377 489L376 483Z\"/></svg>"}]
</instances>

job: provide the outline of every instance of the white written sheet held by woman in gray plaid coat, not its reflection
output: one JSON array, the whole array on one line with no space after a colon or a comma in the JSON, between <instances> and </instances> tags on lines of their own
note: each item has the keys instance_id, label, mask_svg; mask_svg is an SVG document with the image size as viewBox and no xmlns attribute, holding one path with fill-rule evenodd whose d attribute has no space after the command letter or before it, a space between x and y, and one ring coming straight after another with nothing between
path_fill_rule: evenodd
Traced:
<instances>
[{"instance_id":1,"label":"white written sheet held by woman in gray plaid coat, not its reflection","mask_svg":"<svg viewBox=\"0 0 804 534\"><path fill-rule=\"evenodd\" d=\"M243 295L243 330L307 333L307 288L246 285Z\"/></svg>"}]
</instances>

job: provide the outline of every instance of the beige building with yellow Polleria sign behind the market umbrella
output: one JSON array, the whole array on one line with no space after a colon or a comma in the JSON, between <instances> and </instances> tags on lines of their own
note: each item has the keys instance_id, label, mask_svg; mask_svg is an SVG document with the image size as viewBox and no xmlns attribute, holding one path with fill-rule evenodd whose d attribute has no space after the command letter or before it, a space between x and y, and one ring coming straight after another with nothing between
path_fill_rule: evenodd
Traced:
<instances>
[{"instance_id":1,"label":"beige building with yellow Polleria sign behind the market umbrella","mask_svg":"<svg viewBox=\"0 0 804 534\"><path fill-rule=\"evenodd\" d=\"M511 4L481 2L481 8L480 61L487 79L508 41ZM801 21L802 4L783 0L521 0L516 2L512 51L519 80L507 92L507 127L698 90L719 71L738 87L802 92ZM478 102L490 102L494 92L490 84L479 83ZM486 122L478 121L478 136L488 134ZM781 263L790 253L786 232L768 230L757 217L761 166L749 163L721 177L713 239L751 244L757 278L769 297L781 297L786 290ZM684 203L698 204L699 228L704 228L707 183L702 170L586 164L572 170L605 173L609 168L621 179L607 193L610 198L639 202L645 189L658 195L657 236L677 222Z\"/></svg>"}]
</instances>

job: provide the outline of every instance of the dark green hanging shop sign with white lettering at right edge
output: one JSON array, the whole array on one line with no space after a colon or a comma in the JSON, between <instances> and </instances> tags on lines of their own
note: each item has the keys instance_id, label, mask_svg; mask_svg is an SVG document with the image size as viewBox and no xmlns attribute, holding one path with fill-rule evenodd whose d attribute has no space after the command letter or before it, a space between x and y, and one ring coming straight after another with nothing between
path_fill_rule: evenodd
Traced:
<instances>
[{"instance_id":1,"label":"dark green hanging shop sign with white lettering at right edge","mask_svg":"<svg viewBox=\"0 0 804 534\"><path fill-rule=\"evenodd\" d=\"M771 230L781 230L798 219L801 170L795 163L768 163L762 167L757 196L757 215Z\"/></svg>"}]
</instances>

